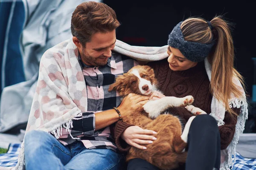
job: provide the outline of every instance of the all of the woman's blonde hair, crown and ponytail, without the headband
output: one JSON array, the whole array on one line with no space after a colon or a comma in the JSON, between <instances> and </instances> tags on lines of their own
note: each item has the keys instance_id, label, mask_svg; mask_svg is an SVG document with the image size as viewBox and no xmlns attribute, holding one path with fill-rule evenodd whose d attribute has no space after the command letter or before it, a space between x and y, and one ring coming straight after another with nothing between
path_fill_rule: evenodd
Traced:
<instances>
[{"instance_id":1,"label":"all of the woman's blonde hair, crown and ponytail, without the headband","mask_svg":"<svg viewBox=\"0 0 256 170\"><path fill-rule=\"evenodd\" d=\"M241 89L233 83L236 77L244 87L244 79L234 68L234 45L230 33L230 27L222 16L216 16L210 21L212 29L206 20L202 18L188 18L181 24L180 28L184 40L200 43L215 42L208 56L212 65L212 76L210 81L210 91L215 94L218 101L222 101L229 113L236 114L229 107L229 99L234 94L235 97L242 95ZM237 114L236 114L237 115Z\"/></svg>"}]
</instances>

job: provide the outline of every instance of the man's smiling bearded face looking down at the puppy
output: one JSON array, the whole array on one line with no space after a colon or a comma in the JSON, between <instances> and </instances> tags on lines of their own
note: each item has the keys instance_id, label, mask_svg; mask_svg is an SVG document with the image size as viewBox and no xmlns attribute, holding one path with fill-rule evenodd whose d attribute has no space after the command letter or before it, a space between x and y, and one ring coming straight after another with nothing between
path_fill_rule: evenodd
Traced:
<instances>
[{"instance_id":1,"label":"man's smiling bearded face looking down at the puppy","mask_svg":"<svg viewBox=\"0 0 256 170\"><path fill-rule=\"evenodd\" d=\"M86 65L106 65L108 58L116 43L116 30L101 33L97 32L91 37L91 41L85 44L85 48L79 48L82 61Z\"/></svg>"}]
</instances>

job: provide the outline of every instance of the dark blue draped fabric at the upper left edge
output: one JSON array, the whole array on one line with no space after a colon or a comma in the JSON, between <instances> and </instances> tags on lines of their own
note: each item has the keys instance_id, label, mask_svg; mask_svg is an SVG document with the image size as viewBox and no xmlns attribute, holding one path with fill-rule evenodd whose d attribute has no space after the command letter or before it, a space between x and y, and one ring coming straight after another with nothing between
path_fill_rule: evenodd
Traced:
<instances>
[{"instance_id":1,"label":"dark blue draped fabric at the upper left edge","mask_svg":"<svg viewBox=\"0 0 256 170\"><path fill-rule=\"evenodd\" d=\"M4 87L25 81L20 35L25 21L22 1L0 1L1 92Z\"/></svg>"}]
</instances>

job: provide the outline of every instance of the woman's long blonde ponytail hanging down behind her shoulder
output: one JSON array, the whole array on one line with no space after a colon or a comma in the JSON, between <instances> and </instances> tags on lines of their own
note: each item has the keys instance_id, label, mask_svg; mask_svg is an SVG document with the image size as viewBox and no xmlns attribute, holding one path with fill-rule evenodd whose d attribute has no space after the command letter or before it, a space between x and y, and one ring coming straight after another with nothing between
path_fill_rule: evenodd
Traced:
<instances>
[{"instance_id":1,"label":"woman's long blonde ponytail hanging down behind her shoulder","mask_svg":"<svg viewBox=\"0 0 256 170\"><path fill-rule=\"evenodd\" d=\"M244 87L244 79L234 68L234 45L230 33L230 28L221 17L214 17L211 21L213 26L212 34L216 44L209 55L212 65L212 78L210 91L215 94L215 98L222 101L229 113L236 114L229 107L229 99L234 94L239 98L241 90L233 83L233 78L239 79ZM237 115L237 114L236 114Z\"/></svg>"}]
</instances>

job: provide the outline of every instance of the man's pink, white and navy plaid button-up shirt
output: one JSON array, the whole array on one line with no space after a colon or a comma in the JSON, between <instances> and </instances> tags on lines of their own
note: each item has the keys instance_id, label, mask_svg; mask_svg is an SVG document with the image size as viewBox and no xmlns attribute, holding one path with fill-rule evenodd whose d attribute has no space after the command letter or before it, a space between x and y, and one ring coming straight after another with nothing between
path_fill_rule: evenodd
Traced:
<instances>
[{"instance_id":1,"label":"man's pink, white and navy plaid button-up shirt","mask_svg":"<svg viewBox=\"0 0 256 170\"><path fill-rule=\"evenodd\" d=\"M110 127L95 130L95 113L107 111L121 104L121 97L116 91L108 91L118 75L129 71L137 65L134 59L119 53L112 53L105 66L85 65L79 55L79 63L84 74L87 88L87 112L82 113L82 117L73 119L71 135L62 129L59 141L64 144L71 144L76 140L81 140L88 149L107 148L116 150L114 139L110 133ZM78 94L79 95L79 94Z\"/></svg>"}]
</instances>

